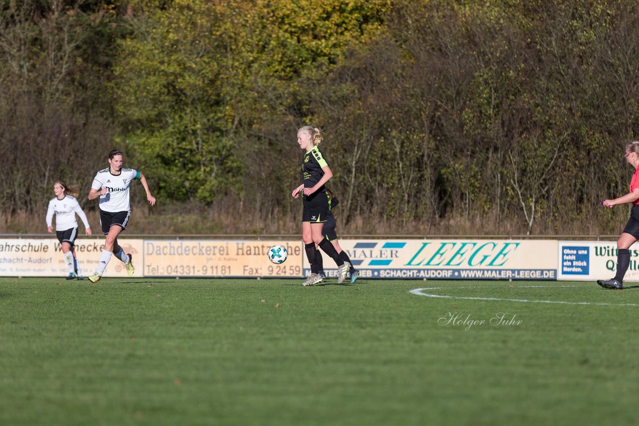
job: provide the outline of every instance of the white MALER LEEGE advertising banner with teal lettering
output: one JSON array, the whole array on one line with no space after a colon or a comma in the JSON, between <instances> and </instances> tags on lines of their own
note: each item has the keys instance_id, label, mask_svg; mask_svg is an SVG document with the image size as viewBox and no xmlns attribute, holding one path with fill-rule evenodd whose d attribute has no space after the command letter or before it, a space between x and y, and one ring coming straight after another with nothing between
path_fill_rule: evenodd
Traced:
<instances>
[{"instance_id":1,"label":"white MALER LEEGE advertising banner with teal lettering","mask_svg":"<svg viewBox=\"0 0 639 426\"><path fill-rule=\"evenodd\" d=\"M362 278L556 280L556 240L339 240ZM323 254L327 277L337 276ZM304 273L310 273L304 256Z\"/></svg>"}]
</instances>

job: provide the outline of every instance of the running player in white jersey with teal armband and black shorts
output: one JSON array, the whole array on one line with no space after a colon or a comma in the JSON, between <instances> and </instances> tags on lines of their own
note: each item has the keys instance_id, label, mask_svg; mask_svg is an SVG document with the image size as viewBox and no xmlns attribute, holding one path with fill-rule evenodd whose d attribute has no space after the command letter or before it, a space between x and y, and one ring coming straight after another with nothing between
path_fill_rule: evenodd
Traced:
<instances>
[{"instance_id":1,"label":"running player in white jersey with teal armband and black shorts","mask_svg":"<svg viewBox=\"0 0 639 426\"><path fill-rule=\"evenodd\" d=\"M134 169L123 169L122 161L122 151L112 149L109 153L109 167L95 175L89 192L89 200L95 200L100 197L100 225L102 225L102 232L107 238L98 267L93 275L89 277L91 282L100 280L107 264L111 260L112 254L124 262L128 275L133 275L134 268L131 254L125 254L124 250L118 245L118 235L126 229L128 217L131 215L128 194L131 181L139 179L142 186L144 186L149 204L151 206L155 205L155 197L151 195L144 175Z\"/></svg>"}]
</instances>

